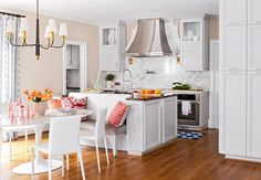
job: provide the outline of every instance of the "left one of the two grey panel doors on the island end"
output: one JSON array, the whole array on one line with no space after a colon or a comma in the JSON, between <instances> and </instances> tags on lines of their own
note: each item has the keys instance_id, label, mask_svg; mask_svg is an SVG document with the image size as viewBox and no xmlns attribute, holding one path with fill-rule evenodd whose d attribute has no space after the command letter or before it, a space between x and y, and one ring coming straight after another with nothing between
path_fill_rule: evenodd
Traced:
<instances>
[{"instance_id":1,"label":"left one of the two grey panel doors on the island end","mask_svg":"<svg viewBox=\"0 0 261 180\"><path fill-rule=\"evenodd\" d=\"M160 100L145 103L145 150L155 148L161 144L161 117Z\"/></svg>"}]
</instances>

